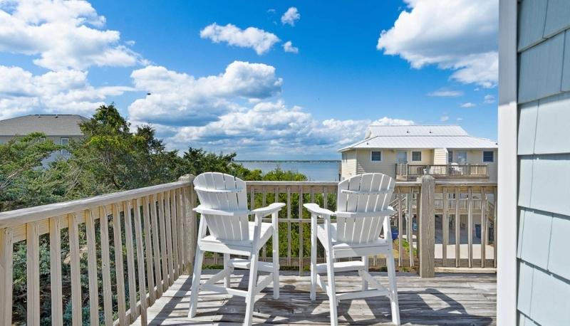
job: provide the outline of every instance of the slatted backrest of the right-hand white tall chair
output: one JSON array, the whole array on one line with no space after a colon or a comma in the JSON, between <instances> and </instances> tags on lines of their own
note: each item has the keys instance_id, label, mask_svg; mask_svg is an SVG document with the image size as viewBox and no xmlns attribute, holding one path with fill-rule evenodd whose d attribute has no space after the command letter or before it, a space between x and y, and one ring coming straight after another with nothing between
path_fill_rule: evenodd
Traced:
<instances>
[{"instance_id":1,"label":"slatted backrest of the right-hand white tall chair","mask_svg":"<svg viewBox=\"0 0 570 326\"><path fill-rule=\"evenodd\" d=\"M394 192L393 178L380 173L359 174L338 184L338 212L368 213L366 217L336 219L337 241L366 243L378 239L388 203ZM369 213L378 212L378 216Z\"/></svg>"}]
</instances>

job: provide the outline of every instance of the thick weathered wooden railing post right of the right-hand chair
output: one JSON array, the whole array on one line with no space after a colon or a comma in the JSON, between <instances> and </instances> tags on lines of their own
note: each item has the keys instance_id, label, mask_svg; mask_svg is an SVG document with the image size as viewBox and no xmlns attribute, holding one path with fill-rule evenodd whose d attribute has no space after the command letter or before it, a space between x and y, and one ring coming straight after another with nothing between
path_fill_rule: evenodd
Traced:
<instances>
[{"instance_id":1,"label":"thick weathered wooden railing post right of the right-hand chair","mask_svg":"<svg viewBox=\"0 0 570 326\"><path fill-rule=\"evenodd\" d=\"M418 208L418 250L420 277L435 276L435 179L430 175L418 178L421 182Z\"/></svg>"}]
</instances>

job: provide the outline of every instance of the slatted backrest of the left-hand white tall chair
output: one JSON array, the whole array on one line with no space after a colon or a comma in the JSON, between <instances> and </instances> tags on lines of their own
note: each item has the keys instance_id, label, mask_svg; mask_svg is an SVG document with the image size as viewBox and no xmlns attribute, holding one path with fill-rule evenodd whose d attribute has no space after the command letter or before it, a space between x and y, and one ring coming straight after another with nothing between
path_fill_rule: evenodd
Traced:
<instances>
[{"instance_id":1,"label":"slatted backrest of the left-hand white tall chair","mask_svg":"<svg viewBox=\"0 0 570 326\"><path fill-rule=\"evenodd\" d=\"M247 211L245 182L229 174L202 173L194 179L200 205L219 211ZM210 235L224 240L249 239L248 216L222 216L202 214Z\"/></svg>"}]
</instances>

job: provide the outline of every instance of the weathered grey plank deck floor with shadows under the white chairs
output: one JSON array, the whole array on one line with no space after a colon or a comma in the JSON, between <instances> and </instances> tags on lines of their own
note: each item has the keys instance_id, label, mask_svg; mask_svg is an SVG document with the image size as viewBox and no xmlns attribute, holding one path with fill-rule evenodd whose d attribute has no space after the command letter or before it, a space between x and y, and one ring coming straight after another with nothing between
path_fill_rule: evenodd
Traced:
<instances>
[{"instance_id":1,"label":"weathered grey plank deck floor with shadows under the white chairs","mask_svg":"<svg viewBox=\"0 0 570 326\"><path fill-rule=\"evenodd\" d=\"M216 271L205 270L202 280ZM373 273L387 281L385 273ZM149 307L149 325L241 325L245 303L240 297L202 293L198 313L188 319L189 275L180 275L175 284ZM281 296L274 300L271 288L255 303L254 324L328 325L328 298L317 291L309 300L309 276L281 272ZM337 292L356 290L361 281L356 273L336 277ZM232 287L247 289L247 275L232 276ZM398 294L402 325L495 325L496 277L492 274L437 273L435 278L398 274ZM341 325L390 325L387 298L343 300L338 306ZM137 320L134 325L140 325Z\"/></svg>"}]
</instances>

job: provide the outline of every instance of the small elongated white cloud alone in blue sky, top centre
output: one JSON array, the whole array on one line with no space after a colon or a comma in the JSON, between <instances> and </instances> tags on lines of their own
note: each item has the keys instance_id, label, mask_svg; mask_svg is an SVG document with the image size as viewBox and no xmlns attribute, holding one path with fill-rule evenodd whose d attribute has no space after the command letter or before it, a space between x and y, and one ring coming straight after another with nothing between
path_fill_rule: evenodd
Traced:
<instances>
[{"instance_id":1,"label":"small elongated white cloud alone in blue sky, top centre","mask_svg":"<svg viewBox=\"0 0 570 326\"><path fill-rule=\"evenodd\" d=\"M200 31L200 37L209 38L214 43L225 42L230 46L253 48L259 55L267 53L275 43L280 41L274 33L256 27L241 29L231 23L226 26L212 23Z\"/></svg>"}]
</instances>

